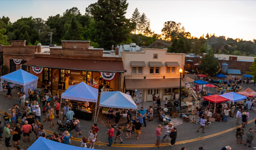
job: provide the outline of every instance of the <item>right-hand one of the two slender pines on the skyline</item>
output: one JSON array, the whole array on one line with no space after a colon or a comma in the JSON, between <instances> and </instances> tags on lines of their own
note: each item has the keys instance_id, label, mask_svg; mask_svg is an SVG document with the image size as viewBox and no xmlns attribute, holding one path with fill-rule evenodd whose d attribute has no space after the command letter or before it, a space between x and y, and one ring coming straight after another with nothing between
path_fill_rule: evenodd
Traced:
<instances>
[{"instance_id":1,"label":"right-hand one of the two slender pines on the skyline","mask_svg":"<svg viewBox=\"0 0 256 150\"><path fill-rule=\"evenodd\" d=\"M139 33L142 35L148 35L150 32L150 21L148 20L147 16L142 13L139 19Z\"/></svg>"}]
</instances>

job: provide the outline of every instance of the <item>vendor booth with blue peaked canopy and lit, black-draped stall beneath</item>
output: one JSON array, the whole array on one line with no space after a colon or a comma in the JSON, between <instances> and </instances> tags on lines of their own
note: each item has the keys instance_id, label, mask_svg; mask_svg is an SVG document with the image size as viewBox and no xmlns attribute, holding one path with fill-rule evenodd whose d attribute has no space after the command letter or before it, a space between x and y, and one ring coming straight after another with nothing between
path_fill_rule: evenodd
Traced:
<instances>
[{"instance_id":1,"label":"vendor booth with blue peaked canopy and lit, black-draped stall beneath","mask_svg":"<svg viewBox=\"0 0 256 150\"><path fill-rule=\"evenodd\" d=\"M61 98L72 103L75 118L92 120L97 105L98 89L87 85L85 82L80 82L76 85L70 85Z\"/></svg>"}]
</instances>

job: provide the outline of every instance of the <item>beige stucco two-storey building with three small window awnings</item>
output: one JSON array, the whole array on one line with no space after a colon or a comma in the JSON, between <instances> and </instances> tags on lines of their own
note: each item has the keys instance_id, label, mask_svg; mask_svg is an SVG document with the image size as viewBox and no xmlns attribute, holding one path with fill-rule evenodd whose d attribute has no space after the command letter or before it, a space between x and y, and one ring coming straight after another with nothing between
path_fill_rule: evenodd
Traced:
<instances>
[{"instance_id":1,"label":"beige stucco two-storey building with three small window awnings","mask_svg":"<svg viewBox=\"0 0 256 150\"><path fill-rule=\"evenodd\" d=\"M184 68L184 53L167 53L163 49L123 52L125 73L123 87L137 102L152 101L152 95L168 100L180 87L179 69ZM183 69L184 70L184 69ZM182 87L185 86L182 81Z\"/></svg>"}]
</instances>

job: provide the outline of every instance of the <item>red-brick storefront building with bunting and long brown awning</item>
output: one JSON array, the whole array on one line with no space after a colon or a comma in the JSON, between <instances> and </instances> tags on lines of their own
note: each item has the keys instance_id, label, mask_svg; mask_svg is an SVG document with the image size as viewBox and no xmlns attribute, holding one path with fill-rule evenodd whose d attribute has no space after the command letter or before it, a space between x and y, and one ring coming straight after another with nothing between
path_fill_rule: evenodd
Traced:
<instances>
[{"instance_id":1,"label":"red-brick storefront building with bunting and long brown awning","mask_svg":"<svg viewBox=\"0 0 256 150\"><path fill-rule=\"evenodd\" d=\"M120 89L121 74L124 73L122 57L104 56L103 49L90 48L90 41L62 41L60 47L26 46L26 41L12 41L11 46L2 46L3 64L10 72L22 68L33 75L32 70L43 68L38 74L38 86L44 88L51 81L52 93L62 94L69 85L84 81L98 88L106 85L109 90ZM15 65L13 59L22 59ZM104 77L100 73L104 74ZM111 81L107 77L115 75ZM105 78L105 79L104 79Z\"/></svg>"}]
</instances>

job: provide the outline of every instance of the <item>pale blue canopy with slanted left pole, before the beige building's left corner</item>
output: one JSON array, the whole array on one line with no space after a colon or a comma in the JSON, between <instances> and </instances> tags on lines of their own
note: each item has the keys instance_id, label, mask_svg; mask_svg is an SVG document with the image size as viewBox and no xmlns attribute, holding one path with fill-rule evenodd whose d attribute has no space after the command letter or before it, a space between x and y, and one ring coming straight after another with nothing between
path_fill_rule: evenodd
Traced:
<instances>
[{"instance_id":1,"label":"pale blue canopy with slanted left pole, before the beige building's left corner","mask_svg":"<svg viewBox=\"0 0 256 150\"><path fill-rule=\"evenodd\" d=\"M101 92L99 106L120 109L137 109L137 105L132 100L131 96L119 91ZM99 112L99 108L98 108ZM98 116L97 112L97 116ZM97 117L96 117L97 121ZM96 122L95 121L95 122Z\"/></svg>"}]
</instances>

